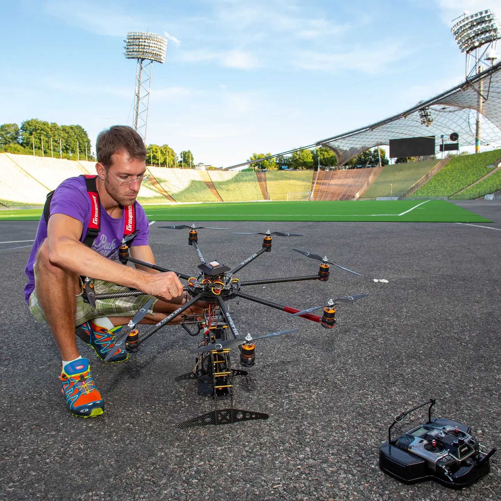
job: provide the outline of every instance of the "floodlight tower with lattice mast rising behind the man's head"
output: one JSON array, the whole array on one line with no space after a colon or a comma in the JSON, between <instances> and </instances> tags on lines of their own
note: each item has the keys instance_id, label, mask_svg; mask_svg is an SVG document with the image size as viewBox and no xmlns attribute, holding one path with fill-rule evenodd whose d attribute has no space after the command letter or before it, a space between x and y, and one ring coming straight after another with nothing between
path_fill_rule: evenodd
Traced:
<instances>
[{"instance_id":1,"label":"floodlight tower with lattice mast rising behind the man's head","mask_svg":"<svg viewBox=\"0 0 501 501\"><path fill-rule=\"evenodd\" d=\"M134 91L134 130L146 143L146 125L151 91L151 69L153 61L165 63L167 40L148 32L127 33L125 57L136 59L136 88Z\"/></svg>"}]
</instances>

